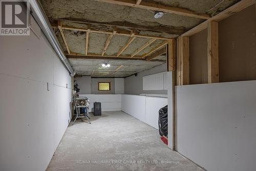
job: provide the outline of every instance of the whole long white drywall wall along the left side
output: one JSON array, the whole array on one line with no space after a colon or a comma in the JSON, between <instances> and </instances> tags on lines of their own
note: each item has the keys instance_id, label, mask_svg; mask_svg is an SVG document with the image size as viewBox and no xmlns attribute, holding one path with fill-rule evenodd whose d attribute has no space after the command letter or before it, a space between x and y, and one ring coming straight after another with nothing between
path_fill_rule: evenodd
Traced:
<instances>
[{"instance_id":1,"label":"whole long white drywall wall along the left side","mask_svg":"<svg viewBox=\"0 0 256 171\"><path fill-rule=\"evenodd\" d=\"M42 32L0 36L0 53L0 170L46 170L70 120L71 77Z\"/></svg>"}]
</instances>

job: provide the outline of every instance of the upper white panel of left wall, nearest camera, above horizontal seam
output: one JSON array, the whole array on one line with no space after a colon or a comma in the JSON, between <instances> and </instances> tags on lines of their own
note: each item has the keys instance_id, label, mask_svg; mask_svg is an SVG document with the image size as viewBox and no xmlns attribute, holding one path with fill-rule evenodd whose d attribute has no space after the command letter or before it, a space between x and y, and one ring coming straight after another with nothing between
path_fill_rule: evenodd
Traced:
<instances>
[{"instance_id":1,"label":"upper white panel of left wall, nearest camera, above horizontal seam","mask_svg":"<svg viewBox=\"0 0 256 171\"><path fill-rule=\"evenodd\" d=\"M0 73L53 83L53 50L43 33L1 36L0 52Z\"/></svg>"}]
</instances>

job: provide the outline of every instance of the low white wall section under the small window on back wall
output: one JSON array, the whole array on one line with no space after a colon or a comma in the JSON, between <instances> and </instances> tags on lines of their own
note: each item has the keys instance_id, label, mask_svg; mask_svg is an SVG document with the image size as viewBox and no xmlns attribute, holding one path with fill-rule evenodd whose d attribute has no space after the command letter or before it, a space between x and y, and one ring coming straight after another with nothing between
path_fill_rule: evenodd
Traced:
<instances>
[{"instance_id":1,"label":"low white wall section under the small window on back wall","mask_svg":"<svg viewBox=\"0 0 256 171\"><path fill-rule=\"evenodd\" d=\"M80 94L90 98L89 112L94 112L93 103L101 102L101 111L121 111L121 94Z\"/></svg>"}]
</instances>

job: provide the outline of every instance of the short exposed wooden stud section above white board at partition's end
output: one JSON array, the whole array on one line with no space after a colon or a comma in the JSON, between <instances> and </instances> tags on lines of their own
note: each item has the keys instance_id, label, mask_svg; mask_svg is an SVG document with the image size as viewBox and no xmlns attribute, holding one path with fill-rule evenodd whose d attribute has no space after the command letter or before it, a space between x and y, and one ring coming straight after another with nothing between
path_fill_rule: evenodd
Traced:
<instances>
[{"instance_id":1,"label":"short exposed wooden stud section above white board at partition's end","mask_svg":"<svg viewBox=\"0 0 256 171\"><path fill-rule=\"evenodd\" d=\"M167 55L166 55L166 64L167 71L175 71L176 70L176 40L170 40L167 44Z\"/></svg>"}]
</instances>

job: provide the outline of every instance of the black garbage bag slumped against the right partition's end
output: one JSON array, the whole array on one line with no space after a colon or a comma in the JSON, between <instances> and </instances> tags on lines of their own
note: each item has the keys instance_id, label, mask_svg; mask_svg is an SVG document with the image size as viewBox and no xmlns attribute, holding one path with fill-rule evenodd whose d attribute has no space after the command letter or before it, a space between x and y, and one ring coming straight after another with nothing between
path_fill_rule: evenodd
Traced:
<instances>
[{"instance_id":1,"label":"black garbage bag slumped against the right partition's end","mask_svg":"<svg viewBox=\"0 0 256 171\"><path fill-rule=\"evenodd\" d=\"M159 134L161 136L167 137L168 135L168 105L164 106L159 110L159 118L158 118L158 127L159 127Z\"/></svg>"}]
</instances>

